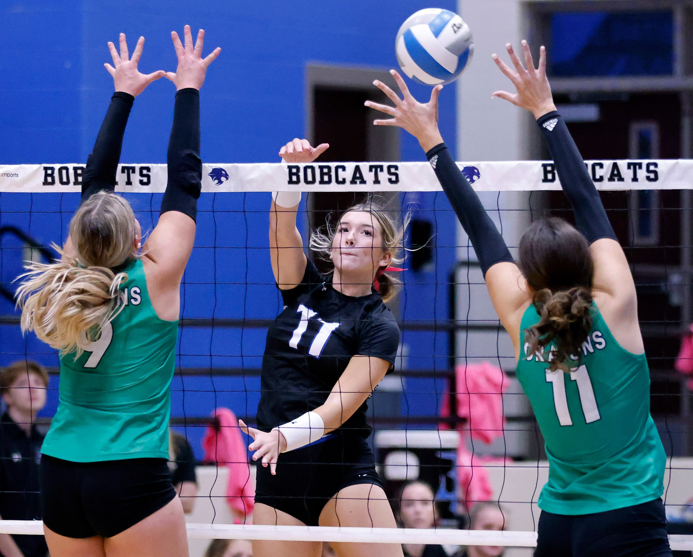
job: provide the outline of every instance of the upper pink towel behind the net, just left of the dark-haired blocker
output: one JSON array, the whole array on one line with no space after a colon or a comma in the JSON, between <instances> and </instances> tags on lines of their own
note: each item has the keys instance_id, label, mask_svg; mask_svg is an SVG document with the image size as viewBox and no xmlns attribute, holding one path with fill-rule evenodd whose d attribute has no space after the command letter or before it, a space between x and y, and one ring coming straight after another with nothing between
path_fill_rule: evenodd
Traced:
<instances>
[{"instance_id":1,"label":"upper pink towel behind the net, just left of the dark-haired blocker","mask_svg":"<svg viewBox=\"0 0 693 557\"><path fill-rule=\"evenodd\" d=\"M457 416L466 418L473 439L489 444L503 434L503 393L509 380L498 366L481 364L459 365L457 378ZM441 416L450 416L450 397L443 397Z\"/></svg>"}]
</instances>

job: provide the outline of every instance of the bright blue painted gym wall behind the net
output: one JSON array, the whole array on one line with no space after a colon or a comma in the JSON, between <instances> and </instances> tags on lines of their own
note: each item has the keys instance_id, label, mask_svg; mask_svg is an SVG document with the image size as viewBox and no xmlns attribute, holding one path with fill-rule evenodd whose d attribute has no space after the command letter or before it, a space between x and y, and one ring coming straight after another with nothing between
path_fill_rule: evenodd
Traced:
<instances>
[{"instance_id":1,"label":"bright blue painted gym wall behind the net","mask_svg":"<svg viewBox=\"0 0 693 557\"><path fill-rule=\"evenodd\" d=\"M455 10L456 2L438 7ZM205 53L221 46L201 94L202 158L209 162L278 161L279 147L304 136L307 62L396 67L394 37L412 12L428 8L418 0L279 1L249 3L212 0L170 1L21 1L1 3L0 164L85 162L112 94L103 68L110 62L106 42L128 36L130 51L139 35L146 45L141 71L175 70L170 31L182 36L207 32ZM428 87L410 83L417 98ZM137 98L123 143L121 162L166 162L175 87L166 79ZM441 94L441 132L455 150L455 87ZM415 139L402 133L403 161L423 160ZM147 228L155 221L159 196L128 196ZM267 254L269 194L202 195L196 249L184 286L184 317L272 318L279 297ZM447 278L455 258L455 218L443 194L407 196L422 218L435 220L435 267L403 273L404 319L448 317ZM0 224L15 224L44 244L66 236L77 194L0 193ZM432 209L437 209L435 212ZM31 212L29 213L29 209ZM9 236L2 240L1 282L21 272L21 249ZM251 249L246 249L249 247ZM260 248L260 249L254 249ZM264 249L263 249L264 248ZM406 263L404 265L407 267ZM216 274L214 273L216 269ZM216 283L216 284L215 284ZM14 312L0 299L0 315ZM179 340L183 366L260 366L265 330L185 328ZM410 369L447 366L446 333L403 335ZM0 365L28 354L56 365L55 352L34 337L21 337L16 326L0 325ZM211 356L213 354L214 356ZM51 383L51 416L58 402ZM403 414L435 414L441 381L408 380ZM207 416L215 405L254 416L258 378L175 378L174 416ZM188 428L198 456L199 428Z\"/></svg>"}]
</instances>

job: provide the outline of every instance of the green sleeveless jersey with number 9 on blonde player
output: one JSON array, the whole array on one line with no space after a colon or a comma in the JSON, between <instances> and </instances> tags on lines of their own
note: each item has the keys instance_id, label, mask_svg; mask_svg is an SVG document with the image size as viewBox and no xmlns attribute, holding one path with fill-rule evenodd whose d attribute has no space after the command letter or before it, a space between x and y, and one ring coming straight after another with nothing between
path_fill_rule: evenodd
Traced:
<instances>
[{"instance_id":1,"label":"green sleeveless jersey with number 9 on blonde player","mask_svg":"<svg viewBox=\"0 0 693 557\"><path fill-rule=\"evenodd\" d=\"M124 269L127 305L85 352L60 355L60 403L42 452L73 462L168 459L178 321L152 308L141 260Z\"/></svg>"}]
</instances>

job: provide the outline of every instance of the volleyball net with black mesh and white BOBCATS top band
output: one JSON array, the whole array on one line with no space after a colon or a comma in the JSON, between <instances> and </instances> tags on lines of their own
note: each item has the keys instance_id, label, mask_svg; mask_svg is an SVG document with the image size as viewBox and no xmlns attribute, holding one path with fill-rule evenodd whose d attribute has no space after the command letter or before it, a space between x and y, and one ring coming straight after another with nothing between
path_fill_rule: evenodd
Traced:
<instances>
[{"instance_id":1,"label":"volleyball net with black mesh and white BOBCATS top band","mask_svg":"<svg viewBox=\"0 0 693 557\"><path fill-rule=\"evenodd\" d=\"M458 164L514 255L532 220L548 214L572 220L550 161ZM687 376L693 362L688 369L685 360L677 360L693 321L693 202L687 189L693 184L693 161L586 165L603 192L638 286L651 412L670 457L665 504L672 524L680 527L672 530L672 547L693 549L693 536L683 535L693 499ZM84 169L78 164L0 166L0 366L35 360L49 369L46 406L39 414L44 430L58 405L58 355L33 335L21 335L13 281L26 260L50 260L55 256L51 243L62 245L67 238ZM116 191L132 204L143 232L150 231L166 188L166 165L121 164L117 176ZM218 428L211 415L221 408L256 423L267 327L283 308L270 267L271 191L309 192L299 206L304 245L311 230L366 197L378 200L396 222L411 218L405 236L410 251L398 272L403 285L389 303L401 345L394 373L368 400L374 427L369 443L396 515L398 492L407 481L430 485L435 529L233 524L246 518L238 509L249 496L229 495L232 472L205 454L202 440ZM170 423L200 465L195 509L188 516L190 538L536 545L536 501L548 470L543 439L514 375L511 342L474 251L428 162L205 163L195 249L181 292ZM254 463L248 454L242 457L252 482ZM474 506L486 502L500 509L505 531L469 529ZM42 529L37 522L3 520L0 532ZM527 550L511 551L519 556Z\"/></svg>"}]
</instances>

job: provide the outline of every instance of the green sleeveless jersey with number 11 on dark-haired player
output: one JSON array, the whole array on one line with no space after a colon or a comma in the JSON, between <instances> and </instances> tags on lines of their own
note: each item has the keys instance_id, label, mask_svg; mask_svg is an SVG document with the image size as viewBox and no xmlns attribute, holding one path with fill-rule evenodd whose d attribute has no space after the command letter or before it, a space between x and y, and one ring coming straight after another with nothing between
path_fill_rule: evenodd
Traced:
<instances>
[{"instance_id":1,"label":"green sleeveless jersey with number 11 on dark-haired player","mask_svg":"<svg viewBox=\"0 0 693 557\"><path fill-rule=\"evenodd\" d=\"M520 331L537 324L534 306ZM523 343L517 377L545 439L549 480L539 508L559 515L601 513L649 502L664 492L666 455L649 413L644 354L624 350L593 306L581 364L550 373L550 351Z\"/></svg>"}]
</instances>

